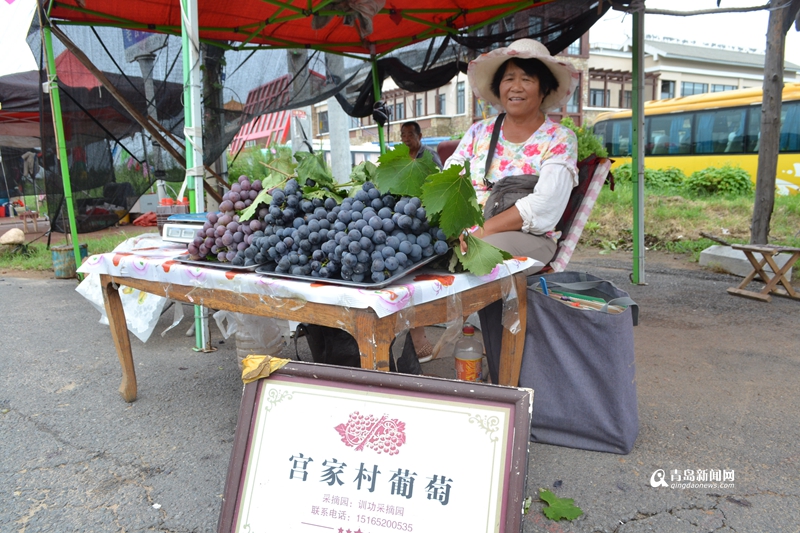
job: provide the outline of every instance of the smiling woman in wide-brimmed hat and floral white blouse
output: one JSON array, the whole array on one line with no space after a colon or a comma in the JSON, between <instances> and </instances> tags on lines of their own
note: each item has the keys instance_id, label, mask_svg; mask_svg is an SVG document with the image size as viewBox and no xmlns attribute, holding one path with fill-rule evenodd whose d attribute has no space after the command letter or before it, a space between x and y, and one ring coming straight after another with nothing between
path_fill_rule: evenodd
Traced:
<instances>
[{"instance_id":1,"label":"smiling woman in wide-brimmed hat and floral white blouse","mask_svg":"<svg viewBox=\"0 0 800 533\"><path fill-rule=\"evenodd\" d=\"M519 39L470 62L468 76L475 95L505 113L473 124L445 167L470 163L486 218L476 237L546 265L578 184L578 141L545 112L572 97L578 74L540 42Z\"/></svg>"}]
</instances>

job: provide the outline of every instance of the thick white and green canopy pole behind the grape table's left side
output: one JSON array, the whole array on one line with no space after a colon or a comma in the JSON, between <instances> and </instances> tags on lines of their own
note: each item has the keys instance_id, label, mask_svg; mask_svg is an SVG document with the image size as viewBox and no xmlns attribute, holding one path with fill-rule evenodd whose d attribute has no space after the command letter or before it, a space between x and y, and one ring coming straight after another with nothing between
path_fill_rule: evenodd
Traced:
<instances>
[{"instance_id":1,"label":"thick white and green canopy pole behind the grape table's left side","mask_svg":"<svg viewBox=\"0 0 800 533\"><path fill-rule=\"evenodd\" d=\"M183 122L186 137L186 184L193 213L205 211L203 201L203 131L200 118L200 40L197 0L181 0L181 43L183 45ZM194 306L194 334L197 352L210 352L208 310Z\"/></svg>"}]
</instances>

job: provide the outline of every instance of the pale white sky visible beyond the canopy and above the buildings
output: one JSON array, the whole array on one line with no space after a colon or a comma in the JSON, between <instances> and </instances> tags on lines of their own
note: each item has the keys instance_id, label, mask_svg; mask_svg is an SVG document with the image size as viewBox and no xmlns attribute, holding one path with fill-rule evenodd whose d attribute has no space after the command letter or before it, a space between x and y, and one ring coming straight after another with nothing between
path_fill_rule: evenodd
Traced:
<instances>
[{"instance_id":1,"label":"pale white sky visible beyond the canopy and above the buildings","mask_svg":"<svg viewBox=\"0 0 800 533\"><path fill-rule=\"evenodd\" d=\"M767 0L721 0L721 8L763 5ZM693 11L714 9L717 0L646 0L652 9L673 11ZM36 0L0 0L0 76L33 70L33 60L25 36L36 8ZM697 44L714 43L753 48L764 53L766 47L766 11L736 14L698 15L674 17L666 15L647 15L645 33L659 37L673 37L695 41ZM592 43L624 44L630 39L631 17L625 13L610 10L590 30ZM800 32L794 27L786 38L785 59L800 65Z\"/></svg>"}]
</instances>

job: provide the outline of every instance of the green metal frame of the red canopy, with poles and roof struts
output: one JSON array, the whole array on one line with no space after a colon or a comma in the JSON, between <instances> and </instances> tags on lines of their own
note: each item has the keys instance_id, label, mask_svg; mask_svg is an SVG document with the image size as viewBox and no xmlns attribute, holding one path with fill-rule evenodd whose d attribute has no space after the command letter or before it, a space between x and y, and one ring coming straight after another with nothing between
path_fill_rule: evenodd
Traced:
<instances>
[{"instance_id":1,"label":"green metal frame of the red canopy, with poles and roof struts","mask_svg":"<svg viewBox=\"0 0 800 533\"><path fill-rule=\"evenodd\" d=\"M46 1L46 0L40 0ZM543 1L536 1L536 0L528 0L524 2L519 1L510 1L503 4L491 5L491 6L483 6L477 7L474 9L469 10L471 13L476 12L485 12L485 11L496 11L498 9L502 10L502 13L496 15L494 17L489 17L486 20L473 23L470 29L479 29L489 24L496 22L497 20L503 19L508 17L509 15L513 15L519 11L528 9L530 7L538 7L540 5L544 5L547 3L554 2L556 0L543 0ZM189 186L189 194L190 194L190 204L193 208L194 212L202 212L205 209L205 202L203 201L203 190L202 187L205 184L204 180L204 172L203 172L203 165L202 165L202 123L201 123L201 101L200 101L200 75L199 75L199 66L200 66L200 59L199 59L199 43L200 42L210 42L216 46L220 45L219 41L216 40L209 40L200 37L200 34L203 32L233 32L236 34L245 33L244 38L241 41L241 45L227 45L224 48L231 49L231 50L248 50L248 49L258 49L258 48L272 48L272 49L280 49L280 48L298 48L298 44L296 42L292 42L286 39L280 39L273 36L265 35L263 32L273 24L280 24L283 22L289 22L293 20L307 18L313 15L322 15L322 16L343 16L347 13L344 11L339 10L332 10L329 9L329 5L333 2L333 0L322 0L316 6L311 5L311 1L309 1L308 8L303 9L291 4L291 1L282 1L282 0L264 0L265 3L274 5L279 7L280 9L268 18L265 21L259 22L257 24L246 24L244 26L236 27L236 28L224 28L224 27L209 27L203 26L200 27L198 23L198 7L197 7L197 0L181 0L181 25L180 27L174 26L164 26L164 25L148 25L148 24L141 24L136 23L130 20L123 19L121 17L107 15L98 11L88 10L86 8L80 6L71 6L68 4L61 4L60 6L64 9L72 10L78 13L90 15L98 20L93 20L90 24L94 26L113 26L113 27L121 27L127 29L138 29L138 30L145 30L145 31L153 31L159 33L166 33L172 35L181 35L183 41L183 72L184 72L184 87L185 87L185 137L186 137L186 181L185 184ZM638 2L637 2L638 4ZM48 26L45 26L44 21L42 21L42 28L43 35L50 35L50 28L49 28L49 13L50 9L53 7L53 3L50 2L48 6ZM599 8L599 6L598 6ZM644 3L642 2L641 5L637 5L636 7L631 8L631 11L634 12L634 47L638 49L640 52L643 50L643 28L644 28ZM288 14L286 14L288 13ZM340 42L340 43L330 43L327 45L303 45L305 48L311 48L315 50L320 50L324 52L339 54L347 57L353 57L361 60L369 60L371 62L372 67L372 74L373 74L373 89L374 89L374 96L375 101L377 102L380 99L380 84L377 79L377 59L383 57L384 55L390 53L392 50L396 48L400 48L414 42L422 41L431 39L434 37L447 35L447 34L457 34L459 32L459 28L457 27L456 20L458 17L463 16L467 13L467 10L464 9L457 9L457 8L411 8L411 9L381 9L379 11L380 14L389 15L393 17L399 17L400 19L405 19L411 22L415 22L418 24L422 24L427 27L427 29L423 32L420 32L416 35L402 37L402 38L395 38L395 39L385 39L385 40L376 40L371 42ZM416 15L421 14L431 14L431 13L441 13L443 15L447 15L444 22L433 22L425 20ZM87 25L85 21L65 21L60 20L59 24L64 25ZM258 41L258 43L250 45L250 43L254 43ZM638 47L638 48L636 48ZM351 53L353 49L364 49L366 48L366 52L369 54L368 58L363 56L359 56L356 53ZM377 50L381 48L384 49L384 52L377 53ZM52 61L52 41L50 42L49 46L46 47L47 49L47 56L48 56L48 64ZM638 69L637 69L638 65ZM634 73L637 76L637 80L641 77L642 74L642 67L643 63L634 63ZM55 79L55 64L52 65L52 78ZM638 102L641 104L642 102L642 90L644 88L643 83L634 83L633 86L633 99L634 102ZM57 100L57 88L56 88L56 100ZM69 173L67 169L67 162L66 162L66 148L63 142L63 124L61 123L61 110L60 105L58 105L58 110L56 110L57 104L54 101L54 109L53 113L56 117L56 125L57 125L57 138L60 143L59 150L64 151L64 157L61 158L61 165L62 165L62 177L64 180L64 189L65 194L66 191L69 189ZM638 116L637 116L638 115ZM640 121L643 118L643 113L638 113L638 109L634 109L634 124L637 121ZM634 126L635 127L635 126ZM383 128L380 127L379 131L379 140L381 146L381 152L385 151L385 139ZM634 130L636 131L636 130ZM643 128L639 128L637 134L634 138L634 147L635 147L635 154L634 154L634 161L637 161L638 167L643 167L643 157L644 157L644 139L643 139ZM199 158L200 163L197 163L197 159ZM193 178L193 179L190 179ZM642 168L639 168L638 172L638 183L639 188L637 191L638 199L634 201L634 237L636 238L635 243L638 243L639 240L643 240L643 227L641 223L637 223L637 220L642 218L642 210L643 205L643 180L644 180L644 173ZM203 185L201 185L201 183ZM77 239L77 233L74 224L74 211L72 206L72 196L71 190L69 192L69 196L66 197L68 201L68 212L70 215L70 226L72 231L75 233L73 236L73 241ZM641 233L641 235L639 235ZM639 239L642 237L642 239ZM79 247L74 247L75 255L76 255L76 264L79 264ZM643 250L640 250L643 252ZM638 258L639 255L635 253L635 257ZM641 279L643 281L644 276L644 258L641 257L641 260L637 259L635 262L635 266L637 266L636 272L632 278L632 281L639 282ZM639 273L639 268L641 267L641 273ZM196 346L195 350L198 351L208 351L209 350L209 339L208 339L208 316L205 313L205 309L201 306L195 306L195 335L196 335Z\"/></svg>"}]
</instances>

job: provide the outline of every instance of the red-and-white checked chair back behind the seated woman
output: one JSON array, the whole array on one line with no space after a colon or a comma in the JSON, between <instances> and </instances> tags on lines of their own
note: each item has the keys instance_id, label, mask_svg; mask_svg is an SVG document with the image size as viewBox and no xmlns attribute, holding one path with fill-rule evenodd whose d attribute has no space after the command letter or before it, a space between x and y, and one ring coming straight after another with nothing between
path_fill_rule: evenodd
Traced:
<instances>
[{"instance_id":1,"label":"red-and-white checked chair back behind the seated woman","mask_svg":"<svg viewBox=\"0 0 800 533\"><path fill-rule=\"evenodd\" d=\"M550 264L541 270L542 273L566 270L567 263L581 238L583 228L592 213L592 208L600 194L600 189L603 188L610 168L610 159L601 159L596 156L587 157L578 163L578 185L572 189L567 208L556 225L556 230L561 231L556 255ZM613 178L610 186L613 191Z\"/></svg>"}]
</instances>

